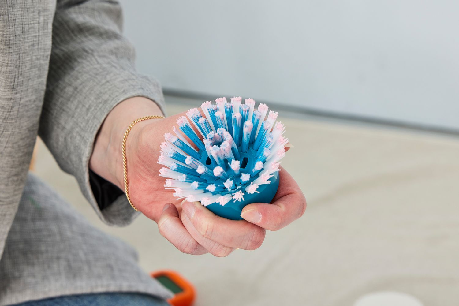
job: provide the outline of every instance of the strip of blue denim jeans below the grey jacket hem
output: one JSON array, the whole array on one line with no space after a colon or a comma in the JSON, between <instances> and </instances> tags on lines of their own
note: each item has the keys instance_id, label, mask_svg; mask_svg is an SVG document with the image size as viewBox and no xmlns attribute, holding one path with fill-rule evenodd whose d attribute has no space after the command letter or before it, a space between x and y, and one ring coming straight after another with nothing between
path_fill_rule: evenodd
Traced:
<instances>
[{"instance_id":1,"label":"strip of blue denim jeans below the grey jacket hem","mask_svg":"<svg viewBox=\"0 0 459 306\"><path fill-rule=\"evenodd\" d=\"M170 306L165 300L139 293L95 293L58 296L15 306Z\"/></svg>"}]
</instances>

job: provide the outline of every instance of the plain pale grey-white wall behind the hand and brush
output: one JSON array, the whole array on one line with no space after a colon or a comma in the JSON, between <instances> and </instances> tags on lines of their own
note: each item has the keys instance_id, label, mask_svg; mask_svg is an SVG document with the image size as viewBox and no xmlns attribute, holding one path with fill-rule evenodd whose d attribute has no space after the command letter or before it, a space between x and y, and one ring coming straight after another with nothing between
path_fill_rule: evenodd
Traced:
<instances>
[{"instance_id":1,"label":"plain pale grey-white wall behind the hand and brush","mask_svg":"<svg viewBox=\"0 0 459 306\"><path fill-rule=\"evenodd\" d=\"M458 1L121 2L168 89L459 129Z\"/></svg>"}]
</instances>

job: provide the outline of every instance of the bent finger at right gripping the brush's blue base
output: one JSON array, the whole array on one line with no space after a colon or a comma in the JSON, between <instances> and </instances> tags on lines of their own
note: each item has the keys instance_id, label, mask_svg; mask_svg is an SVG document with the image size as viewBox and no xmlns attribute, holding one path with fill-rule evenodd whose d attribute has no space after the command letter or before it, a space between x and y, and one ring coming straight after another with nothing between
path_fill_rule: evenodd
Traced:
<instances>
[{"instance_id":1,"label":"bent finger at right gripping the brush's blue base","mask_svg":"<svg viewBox=\"0 0 459 306\"><path fill-rule=\"evenodd\" d=\"M306 199L295 180L283 168L273 204L253 203L242 210L241 217L259 227L276 231L295 221L306 210Z\"/></svg>"}]
</instances>

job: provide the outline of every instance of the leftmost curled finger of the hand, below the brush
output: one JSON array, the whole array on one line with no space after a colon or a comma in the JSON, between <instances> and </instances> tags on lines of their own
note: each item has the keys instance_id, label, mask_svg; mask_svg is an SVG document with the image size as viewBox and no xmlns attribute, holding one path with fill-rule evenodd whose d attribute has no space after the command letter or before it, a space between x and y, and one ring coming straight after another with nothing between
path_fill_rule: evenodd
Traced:
<instances>
[{"instance_id":1,"label":"leftmost curled finger of the hand, below the brush","mask_svg":"<svg viewBox=\"0 0 459 306\"><path fill-rule=\"evenodd\" d=\"M175 205L164 205L161 217L158 220L159 233L168 239L177 249L183 253L202 255L207 250L194 239L179 218L179 211Z\"/></svg>"}]
</instances>

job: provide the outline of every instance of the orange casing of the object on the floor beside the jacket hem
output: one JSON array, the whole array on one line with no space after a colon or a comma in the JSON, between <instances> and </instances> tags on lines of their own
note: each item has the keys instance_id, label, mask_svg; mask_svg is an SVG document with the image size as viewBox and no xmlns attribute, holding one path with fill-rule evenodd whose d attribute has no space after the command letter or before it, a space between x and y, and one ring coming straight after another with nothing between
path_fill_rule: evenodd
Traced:
<instances>
[{"instance_id":1,"label":"orange casing of the object on the floor beside the jacket hem","mask_svg":"<svg viewBox=\"0 0 459 306\"><path fill-rule=\"evenodd\" d=\"M193 305L196 298L195 287L179 273L173 270L160 270L150 275L174 293L174 296L168 299L169 304L172 306Z\"/></svg>"}]
</instances>

